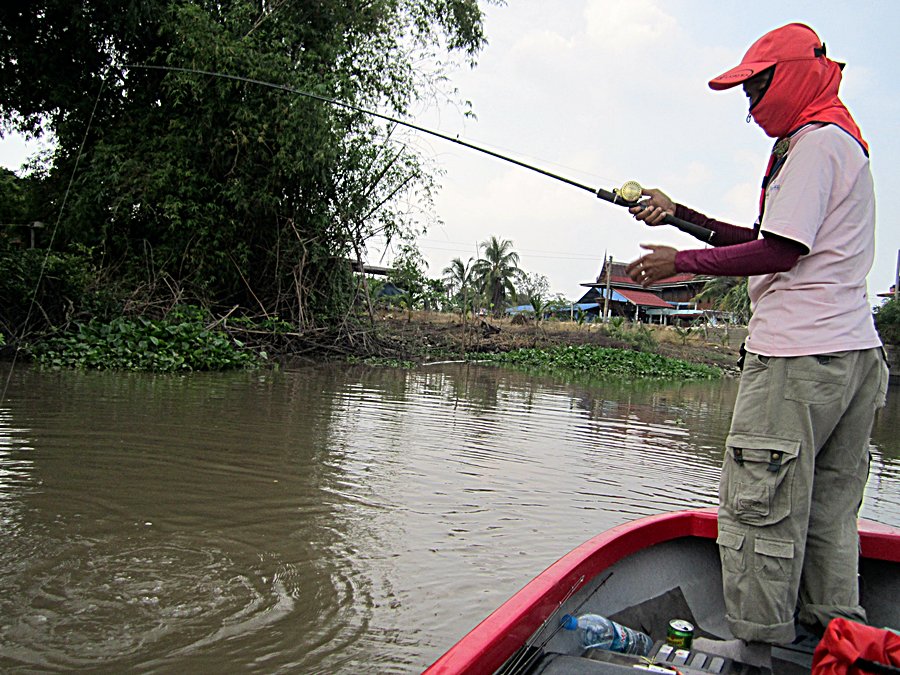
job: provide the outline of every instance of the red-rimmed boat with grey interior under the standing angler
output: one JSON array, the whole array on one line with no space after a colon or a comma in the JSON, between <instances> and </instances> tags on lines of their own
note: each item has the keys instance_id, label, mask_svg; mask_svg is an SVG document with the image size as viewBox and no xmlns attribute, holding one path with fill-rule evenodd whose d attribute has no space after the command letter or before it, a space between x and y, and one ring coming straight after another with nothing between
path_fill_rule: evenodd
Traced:
<instances>
[{"instance_id":1,"label":"red-rimmed boat with grey interior under the standing angler","mask_svg":"<svg viewBox=\"0 0 900 675\"><path fill-rule=\"evenodd\" d=\"M428 675L516 673L809 673L818 638L798 631L772 649L771 671L709 650L667 646L669 622L728 640L715 508L663 513L595 536L560 558L426 669ZM870 625L900 627L900 529L859 521L860 594ZM646 657L585 649L566 615L600 614L650 636Z\"/></svg>"}]
</instances>

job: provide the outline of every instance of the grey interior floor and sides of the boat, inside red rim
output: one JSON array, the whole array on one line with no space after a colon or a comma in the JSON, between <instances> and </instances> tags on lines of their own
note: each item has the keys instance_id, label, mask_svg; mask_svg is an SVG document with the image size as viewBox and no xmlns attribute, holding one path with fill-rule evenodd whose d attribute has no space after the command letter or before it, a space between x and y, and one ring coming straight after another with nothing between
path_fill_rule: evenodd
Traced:
<instances>
[{"instance_id":1,"label":"grey interior floor and sides of the boat, inside red rim","mask_svg":"<svg viewBox=\"0 0 900 675\"><path fill-rule=\"evenodd\" d=\"M879 579L878 593L861 589L863 604L874 623L888 620L896 612L892 598L884 594L883 582L896 579L896 564L862 561L864 579ZM686 573L690 570L690 573ZM893 582L894 585L900 581ZM732 639L724 621L722 575L718 548L713 540L687 541L675 539L649 547L609 567L603 574L587 582L550 616L540 630L526 643L520 653L507 661L498 672L562 674L635 672L635 666L649 672L672 670L654 669L651 664L676 667L679 673L694 675L774 675L808 674L812 654L818 638L798 632L792 645L772 650L772 670L760 669L728 658L697 650L676 653L665 643L666 629L671 619L686 619L695 626L695 637ZM584 650L577 633L561 630L564 614L602 614L618 623L642 631L654 640L649 657L617 654L600 649ZM885 624L887 625L887 624Z\"/></svg>"}]
</instances>

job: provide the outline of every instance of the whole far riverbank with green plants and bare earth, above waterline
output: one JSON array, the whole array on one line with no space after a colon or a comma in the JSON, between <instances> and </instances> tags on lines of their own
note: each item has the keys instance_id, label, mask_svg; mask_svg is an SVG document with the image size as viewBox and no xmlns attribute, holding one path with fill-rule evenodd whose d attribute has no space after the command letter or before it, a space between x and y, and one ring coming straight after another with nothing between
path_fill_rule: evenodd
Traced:
<instances>
[{"instance_id":1,"label":"whole far riverbank with green plants and bare earth, above waterline","mask_svg":"<svg viewBox=\"0 0 900 675\"><path fill-rule=\"evenodd\" d=\"M550 359L555 349L586 347L624 350L625 357L652 354L737 374L738 348L745 336L746 329L734 327L647 326L621 319L608 324L537 324L521 317L463 319L424 311L381 312L371 319L297 332L279 320L213 320L199 308L186 307L159 320L120 317L110 323L78 324L25 345L23 352L51 369L184 372L341 360L412 366L489 356L498 360L498 355L519 350L537 352L528 358L541 361ZM0 350L0 358L11 358L15 349Z\"/></svg>"}]
</instances>

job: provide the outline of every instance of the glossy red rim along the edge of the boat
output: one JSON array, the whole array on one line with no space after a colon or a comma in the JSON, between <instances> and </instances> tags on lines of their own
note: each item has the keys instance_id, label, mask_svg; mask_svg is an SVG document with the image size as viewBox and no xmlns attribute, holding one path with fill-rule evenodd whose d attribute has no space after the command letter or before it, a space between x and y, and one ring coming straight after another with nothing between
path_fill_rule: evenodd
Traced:
<instances>
[{"instance_id":1,"label":"glossy red rim along the edge of the boat","mask_svg":"<svg viewBox=\"0 0 900 675\"><path fill-rule=\"evenodd\" d=\"M617 525L564 555L429 666L425 673L493 673L571 595L604 569L644 548L673 539L715 540L717 509L646 516ZM860 519L862 558L900 563L900 529Z\"/></svg>"}]
</instances>

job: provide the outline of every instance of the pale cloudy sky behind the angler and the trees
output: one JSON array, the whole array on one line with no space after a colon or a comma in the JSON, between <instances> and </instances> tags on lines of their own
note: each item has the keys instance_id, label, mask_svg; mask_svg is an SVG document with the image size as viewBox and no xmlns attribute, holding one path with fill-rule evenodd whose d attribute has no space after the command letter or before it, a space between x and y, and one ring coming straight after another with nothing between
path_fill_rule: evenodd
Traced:
<instances>
[{"instance_id":1,"label":"pale cloudy sky behind the angler and the trees","mask_svg":"<svg viewBox=\"0 0 900 675\"><path fill-rule=\"evenodd\" d=\"M900 249L895 0L508 0L487 10L490 44L477 67L452 76L477 119L448 106L422 110L415 121L590 186L633 179L751 225L772 141L745 123L740 88L713 92L706 83L763 33L793 21L810 25L828 56L847 63L842 99L869 142L878 200L875 304L875 293L893 283ZM604 253L627 261L641 242L700 245L526 169L436 138L414 142L446 172L437 197L442 224L419 241L429 276L497 236L513 242L526 271L576 299ZM4 166L18 169L25 153L16 139L0 142Z\"/></svg>"}]
</instances>

